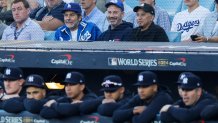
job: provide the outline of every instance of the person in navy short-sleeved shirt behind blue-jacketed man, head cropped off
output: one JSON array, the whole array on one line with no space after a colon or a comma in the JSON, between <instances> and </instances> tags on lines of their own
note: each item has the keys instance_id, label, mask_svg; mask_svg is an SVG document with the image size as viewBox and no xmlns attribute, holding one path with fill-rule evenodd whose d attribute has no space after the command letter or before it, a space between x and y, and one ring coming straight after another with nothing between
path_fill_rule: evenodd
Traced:
<instances>
[{"instance_id":1,"label":"person in navy short-sleeved shirt behind blue-jacketed man, head cropped off","mask_svg":"<svg viewBox=\"0 0 218 123\"><path fill-rule=\"evenodd\" d=\"M62 10L65 3L62 0L45 0L46 6L35 15L36 22L43 30L54 31L64 24Z\"/></svg>"}]
</instances>

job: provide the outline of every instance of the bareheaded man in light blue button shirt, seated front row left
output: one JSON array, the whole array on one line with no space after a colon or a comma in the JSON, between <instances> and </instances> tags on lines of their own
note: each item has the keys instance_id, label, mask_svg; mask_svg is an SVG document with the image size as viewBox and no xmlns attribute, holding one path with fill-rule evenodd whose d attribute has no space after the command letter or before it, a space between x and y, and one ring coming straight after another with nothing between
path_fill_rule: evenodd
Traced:
<instances>
[{"instance_id":1,"label":"bareheaded man in light blue button shirt, seated front row left","mask_svg":"<svg viewBox=\"0 0 218 123\"><path fill-rule=\"evenodd\" d=\"M41 27L29 18L29 3L26 0L14 0L12 14L15 22L8 26L2 40L44 40Z\"/></svg>"}]
</instances>

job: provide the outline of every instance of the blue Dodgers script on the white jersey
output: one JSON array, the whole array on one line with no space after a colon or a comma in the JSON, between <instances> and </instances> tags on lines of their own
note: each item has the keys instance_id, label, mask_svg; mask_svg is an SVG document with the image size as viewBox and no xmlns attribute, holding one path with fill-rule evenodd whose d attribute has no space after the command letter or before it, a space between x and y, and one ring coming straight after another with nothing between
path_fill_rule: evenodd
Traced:
<instances>
[{"instance_id":1,"label":"blue Dodgers script on the white jersey","mask_svg":"<svg viewBox=\"0 0 218 123\"><path fill-rule=\"evenodd\" d=\"M189 32L190 29L199 25L200 25L200 20L186 21L184 24L178 23L177 31L180 31L181 33L183 33L184 31Z\"/></svg>"}]
</instances>

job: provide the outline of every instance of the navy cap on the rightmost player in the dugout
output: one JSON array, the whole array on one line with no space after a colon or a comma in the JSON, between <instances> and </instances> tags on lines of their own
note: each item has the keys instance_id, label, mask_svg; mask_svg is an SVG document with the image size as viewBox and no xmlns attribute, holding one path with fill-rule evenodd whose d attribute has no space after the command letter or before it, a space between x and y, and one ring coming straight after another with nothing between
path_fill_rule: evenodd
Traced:
<instances>
[{"instance_id":1,"label":"navy cap on the rightmost player in the dugout","mask_svg":"<svg viewBox=\"0 0 218 123\"><path fill-rule=\"evenodd\" d=\"M191 72L181 73L178 82L181 83L180 87L184 90L193 90L202 87L201 79Z\"/></svg>"}]
</instances>

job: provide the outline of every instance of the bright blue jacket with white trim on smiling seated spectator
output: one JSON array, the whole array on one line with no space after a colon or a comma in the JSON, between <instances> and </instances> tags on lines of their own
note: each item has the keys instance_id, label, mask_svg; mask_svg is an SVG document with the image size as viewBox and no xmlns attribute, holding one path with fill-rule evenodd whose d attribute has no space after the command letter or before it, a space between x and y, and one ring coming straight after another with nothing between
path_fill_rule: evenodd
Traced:
<instances>
[{"instance_id":1,"label":"bright blue jacket with white trim on smiling seated spectator","mask_svg":"<svg viewBox=\"0 0 218 123\"><path fill-rule=\"evenodd\" d=\"M100 34L101 31L94 23L81 21L78 27L77 41L95 41ZM55 32L55 40L71 41L70 29L66 25L59 27Z\"/></svg>"}]
</instances>

